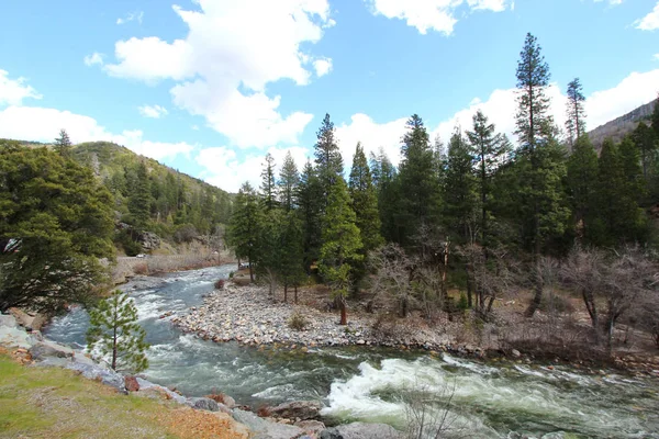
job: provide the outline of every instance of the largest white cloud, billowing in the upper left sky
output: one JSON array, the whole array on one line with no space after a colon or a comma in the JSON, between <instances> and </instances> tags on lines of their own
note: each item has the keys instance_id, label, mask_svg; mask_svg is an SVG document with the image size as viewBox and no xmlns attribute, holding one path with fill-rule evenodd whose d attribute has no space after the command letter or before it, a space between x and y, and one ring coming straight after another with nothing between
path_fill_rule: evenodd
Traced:
<instances>
[{"instance_id":1,"label":"largest white cloud, billowing in the upper left sky","mask_svg":"<svg viewBox=\"0 0 659 439\"><path fill-rule=\"evenodd\" d=\"M185 38L120 41L118 63L107 65L107 71L148 83L177 81L170 90L175 104L205 117L234 145L295 144L312 115L282 115L281 98L267 95L265 89L282 79L306 85L310 68L320 75L314 60L321 58L304 53L301 45L316 43L334 24L327 0L199 0L198 4L194 11L174 7L189 27Z\"/></svg>"}]
</instances>

